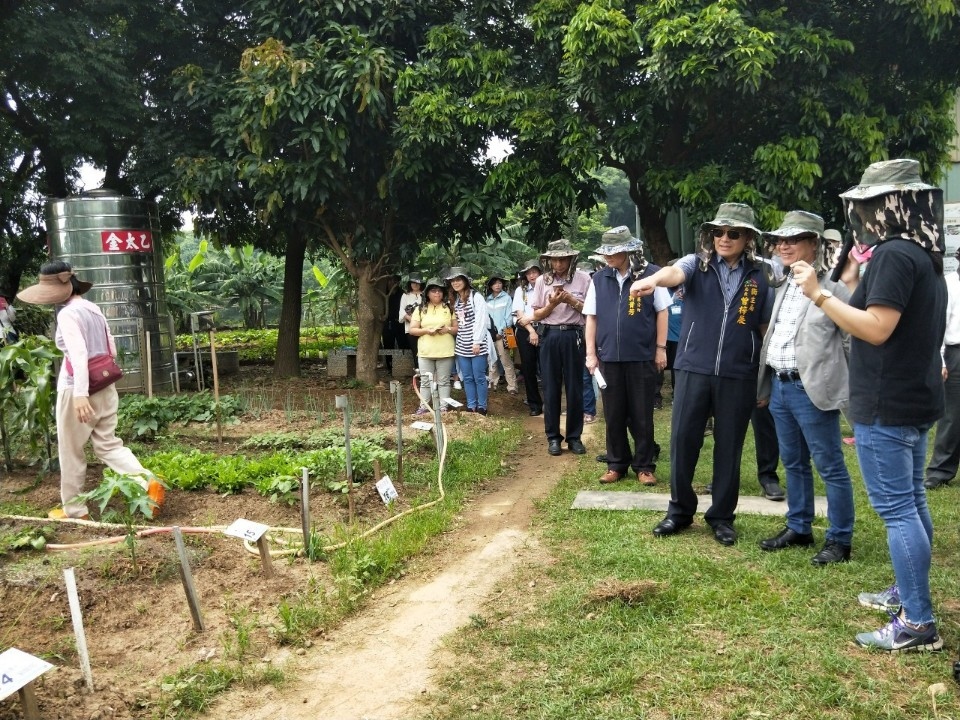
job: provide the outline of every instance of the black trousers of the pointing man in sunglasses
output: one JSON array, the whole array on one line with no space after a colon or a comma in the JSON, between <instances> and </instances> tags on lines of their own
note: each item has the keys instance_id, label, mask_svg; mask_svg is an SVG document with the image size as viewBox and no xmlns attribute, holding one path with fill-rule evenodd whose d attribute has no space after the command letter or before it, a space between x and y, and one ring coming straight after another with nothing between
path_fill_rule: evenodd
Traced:
<instances>
[{"instance_id":1,"label":"black trousers of the pointing man in sunglasses","mask_svg":"<svg viewBox=\"0 0 960 720\"><path fill-rule=\"evenodd\" d=\"M750 415L757 404L757 380L735 380L677 370L670 440L670 507L667 515L688 523L697 511L693 476L712 415L713 504L704 513L710 526L732 523L740 497L740 457Z\"/></svg>"}]
</instances>

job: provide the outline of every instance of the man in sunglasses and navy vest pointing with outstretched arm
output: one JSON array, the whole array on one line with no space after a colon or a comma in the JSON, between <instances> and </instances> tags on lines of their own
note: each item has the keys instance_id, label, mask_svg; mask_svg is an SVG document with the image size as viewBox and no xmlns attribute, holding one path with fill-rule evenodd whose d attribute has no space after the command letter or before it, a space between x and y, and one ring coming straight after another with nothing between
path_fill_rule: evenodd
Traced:
<instances>
[{"instance_id":1,"label":"man in sunglasses and navy vest pointing with outstretched arm","mask_svg":"<svg viewBox=\"0 0 960 720\"><path fill-rule=\"evenodd\" d=\"M707 419L714 422L713 504L704 519L721 545L733 545L740 496L740 456L756 406L761 338L770 320L773 292L754 254L760 231L753 209L724 203L700 226L700 250L631 286L637 296L658 286L684 286L683 321L674 365L670 442L670 506L653 529L674 535L693 522L693 476Z\"/></svg>"}]
</instances>

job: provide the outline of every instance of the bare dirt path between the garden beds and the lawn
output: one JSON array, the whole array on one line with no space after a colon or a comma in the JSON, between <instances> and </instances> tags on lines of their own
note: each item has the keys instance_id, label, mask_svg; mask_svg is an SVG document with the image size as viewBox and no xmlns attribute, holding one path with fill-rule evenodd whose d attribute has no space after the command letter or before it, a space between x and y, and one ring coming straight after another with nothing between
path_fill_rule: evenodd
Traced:
<instances>
[{"instance_id":1,"label":"bare dirt path between the garden beds and the lawn","mask_svg":"<svg viewBox=\"0 0 960 720\"><path fill-rule=\"evenodd\" d=\"M594 452L594 426L585 441ZM430 686L441 639L478 613L484 599L538 551L528 534L534 502L575 456L546 452L542 418L528 418L513 472L468 506L434 572L381 590L328 642L296 658L296 679L280 690L241 691L217 703L212 720L397 720ZM408 712L410 711L410 712Z\"/></svg>"}]
</instances>

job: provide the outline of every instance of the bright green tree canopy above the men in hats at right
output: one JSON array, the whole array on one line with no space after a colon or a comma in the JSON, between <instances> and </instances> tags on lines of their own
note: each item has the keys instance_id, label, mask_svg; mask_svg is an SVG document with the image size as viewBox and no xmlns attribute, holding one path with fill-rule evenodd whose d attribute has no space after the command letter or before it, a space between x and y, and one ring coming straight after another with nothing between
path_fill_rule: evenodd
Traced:
<instances>
[{"instance_id":1,"label":"bright green tree canopy above the men in hats at right","mask_svg":"<svg viewBox=\"0 0 960 720\"><path fill-rule=\"evenodd\" d=\"M796 207L835 219L836 193L869 162L910 155L933 177L946 159L960 84L952 0L473 10L437 30L411 71L433 98L421 104L509 140L514 152L493 179L544 215L591 202L597 188L584 178L599 166L622 170L660 262L671 208L698 218L736 200L768 224Z\"/></svg>"}]
</instances>

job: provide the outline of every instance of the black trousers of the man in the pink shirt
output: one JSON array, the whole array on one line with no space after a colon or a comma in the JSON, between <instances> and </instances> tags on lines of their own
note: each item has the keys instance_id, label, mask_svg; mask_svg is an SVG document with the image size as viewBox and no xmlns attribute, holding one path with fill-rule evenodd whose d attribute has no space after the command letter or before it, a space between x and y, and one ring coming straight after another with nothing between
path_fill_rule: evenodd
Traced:
<instances>
[{"instance_id":1,"label":"black trousers of the man in the pink shirt","mask_svg":"<svg viewBox=\"0 0 960 720\"><path fill-rule=\"evenodd\" d=\"M540 326L540 375L543 377L543 428L547 440L560 434L560 395L567 395L566 440L583 434L583 368L587 362L583 330L557 330Z\"/></svg>"}]
</instances>

